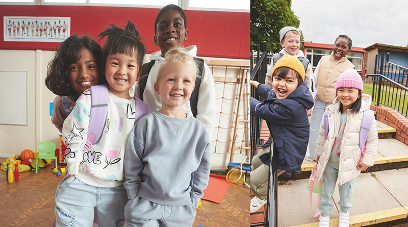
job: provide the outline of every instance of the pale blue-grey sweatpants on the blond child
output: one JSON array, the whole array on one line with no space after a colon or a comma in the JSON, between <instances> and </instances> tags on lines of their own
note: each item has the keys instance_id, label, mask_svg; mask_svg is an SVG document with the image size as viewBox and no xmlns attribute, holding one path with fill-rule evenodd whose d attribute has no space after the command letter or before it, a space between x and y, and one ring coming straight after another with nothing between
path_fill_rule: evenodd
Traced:
<instances>
[{"instance_id":1,"label":"pale blue-grey sweatpants on the blond child","mask_svg":"<svg viewBox=\"0 0 408 227\"><path fill-rule=\"evenodd\" d=\"M193 204L186 206L164 206L136 196L124 208L124 219L129 227L192 226L197 211Z\"/></svg>"}]
</instances>

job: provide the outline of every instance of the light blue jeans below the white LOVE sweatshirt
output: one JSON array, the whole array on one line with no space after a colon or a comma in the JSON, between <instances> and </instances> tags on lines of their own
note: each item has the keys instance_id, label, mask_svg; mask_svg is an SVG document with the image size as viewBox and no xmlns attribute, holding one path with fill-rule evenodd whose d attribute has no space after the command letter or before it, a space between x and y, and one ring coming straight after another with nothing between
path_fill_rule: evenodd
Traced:
<instances>
[{"instance_id":1,"label":"light blue jeans below the white LOVE sweatshirt","mask_svg":"<svg viewBox=\"0 0 408 227\"><path fill-rule=\"evenodd\" d=\"M92 226L94 207L99 227L123 226L126 202L123 185L94 187L65 176L55 194L56 226Z\"/></svg>"}]
</instances>

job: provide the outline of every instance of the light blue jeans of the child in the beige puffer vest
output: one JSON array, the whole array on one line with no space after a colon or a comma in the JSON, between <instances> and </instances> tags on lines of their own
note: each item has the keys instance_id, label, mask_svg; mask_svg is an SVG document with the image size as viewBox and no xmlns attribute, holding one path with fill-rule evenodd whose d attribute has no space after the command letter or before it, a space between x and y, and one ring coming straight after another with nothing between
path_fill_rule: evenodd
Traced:
<instances>
[{"instance_id":1,"label":"light blue jeans of the child in the beige puffer vest","mask_svg":"<svg viewBox=\"0 0 408 227\"><path fill-rule=\"evenodd\" d=\"M310 135L308 152L305 158L310 160L316 160L316 143L317 137L319 136L320 123L322 122L324 111L331 103L325 103L320 99L316 99L315 106L313 107L312 114L309 118L310 124Z\"/></svg>"}]
</instances>

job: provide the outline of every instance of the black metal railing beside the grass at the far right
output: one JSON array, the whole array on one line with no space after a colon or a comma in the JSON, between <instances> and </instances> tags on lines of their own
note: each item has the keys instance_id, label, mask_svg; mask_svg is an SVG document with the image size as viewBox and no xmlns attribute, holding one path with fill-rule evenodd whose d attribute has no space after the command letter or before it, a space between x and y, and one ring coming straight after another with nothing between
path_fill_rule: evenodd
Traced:
<instances>
[{"instance_id":1,"label":"black metal railing beside the grass at the far right","mask_svg":"<svg viewBox=\"0 0 408 227\"><path fill-rule=\"evenodd\" d=\"M391 107L408 118L408 68L389 61L390 53L375 56L372 99L377 106Z\"/></svg>"}]
</instances>

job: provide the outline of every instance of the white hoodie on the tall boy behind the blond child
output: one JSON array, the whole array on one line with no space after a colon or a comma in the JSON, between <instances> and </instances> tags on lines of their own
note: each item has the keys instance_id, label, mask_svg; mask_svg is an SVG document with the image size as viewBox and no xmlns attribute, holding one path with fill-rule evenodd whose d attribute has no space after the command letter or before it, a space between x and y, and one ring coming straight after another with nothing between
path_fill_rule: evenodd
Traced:
<instances>
[{"instance_id":1,"label":"white hoodie on the tall boy behind the blond child","mask_svg":"<svg viewBox=\"0 0 408 227\"><path fill-rule=\"evenodd\" d=\"M187 54L191 57L197 57L197 47L195 45L185 47L183 48L183 51L187 52ZM151 113L162 108L161 97L160 95L156 94L154 85L159 67L164 61L164 58L162 57L161 51L151 53L149 58L150 61L155 61L155 64L151 67L146 81L146 87L143 93L143 102L149 106L149 113ZM136 82L136 89L139 88L137 83L138 82ZM136 91L136 96L139 96L139 91ZM184 104L183 110L185 113L192 115L190 102L186 102ZM210 68L206 63L204 63L200 89L198 90L196 118L204 125L211 139L215 121L215 87Z\"/></svg>"}]
</instances>

